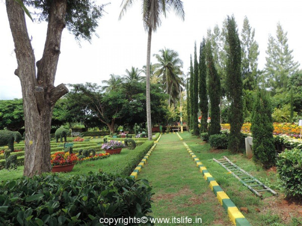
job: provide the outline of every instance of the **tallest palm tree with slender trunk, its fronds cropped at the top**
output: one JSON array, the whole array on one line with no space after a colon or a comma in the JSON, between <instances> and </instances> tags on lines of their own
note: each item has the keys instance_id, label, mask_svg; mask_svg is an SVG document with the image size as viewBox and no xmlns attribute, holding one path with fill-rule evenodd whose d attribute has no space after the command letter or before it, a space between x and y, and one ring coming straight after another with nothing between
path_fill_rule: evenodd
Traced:
<instances>
[{"instance_id":1,"label":"tallest palm tree with slender trunk, its fronds cropped at the top","mask_svg":"<svg viewBox=\"0 0 302 226\"><path fill-rule=\"evenodd\" d=\"M119 20L124 16L126 11L133 5L134 0L123 0L122 10ZM173 9L177 16L182 20L185 18L183 3L181 0L141 0L142 20L145 31L148 32L147 41L147 62L146 62L146 111L147 111L147 127L148 139L152 140L152 123L151 123L151 107L150 107L150 55L151 55L151 38L152 31L157 30L161 25L161 16L166 17L166 10Z\"/></svg>"}]
</instances>

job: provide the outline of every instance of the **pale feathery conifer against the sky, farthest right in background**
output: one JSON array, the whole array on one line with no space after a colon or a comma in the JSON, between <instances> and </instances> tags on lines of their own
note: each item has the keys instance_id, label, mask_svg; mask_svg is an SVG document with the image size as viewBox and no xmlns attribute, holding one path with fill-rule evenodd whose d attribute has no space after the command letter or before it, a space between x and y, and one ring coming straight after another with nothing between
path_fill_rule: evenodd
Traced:
<instances>
[{"instance_id":1,"label":"pale feathery conifer against the sky, farthest right in background","mask_svg":"<svg viewBox=\"0 0 302 226\"><path fill-rule=\"evenodd\" d=\"M293 61L291 53L287 44L287 32L278 23L276 39L271 35L268 38L265 64L265 77L273 94L285 91L289 77L297 71L299 64Z\"/></svg>"}]
</instances>

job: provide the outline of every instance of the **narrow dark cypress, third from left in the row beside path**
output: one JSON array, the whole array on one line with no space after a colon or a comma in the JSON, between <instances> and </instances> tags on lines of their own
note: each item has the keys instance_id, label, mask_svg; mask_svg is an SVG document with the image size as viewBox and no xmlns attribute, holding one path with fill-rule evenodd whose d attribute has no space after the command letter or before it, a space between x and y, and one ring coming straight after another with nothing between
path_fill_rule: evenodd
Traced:
<instances>
[{"instance_id":1,"label":"narrow dark cypress, third from left in the row beside path","mask_svg":"<svg viewBox=\"0 0 302 226\"><path fill-rule=\"evenodd\" d=\"M205 40L202 39L199 51L199 109L201 112L200 133L207 132L208 100L206 90Z\"/></svg>"}]
</instances>

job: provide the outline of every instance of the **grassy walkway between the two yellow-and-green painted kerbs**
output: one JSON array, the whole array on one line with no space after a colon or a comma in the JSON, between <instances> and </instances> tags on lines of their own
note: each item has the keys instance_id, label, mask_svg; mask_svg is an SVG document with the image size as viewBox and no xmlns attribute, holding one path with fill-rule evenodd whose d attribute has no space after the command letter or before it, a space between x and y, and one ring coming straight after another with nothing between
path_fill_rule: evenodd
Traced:
<instances>
[{"instance_id":1,"label":"grassy walkway between the two yellow-and-green painted kerbs","mask_svg":"<svg viewBox=\"0 0 302 226\"><path fill-rule=\"evenodd\" d=\"M231 225L225 210L176 134L162 136L138 178L147 179L155 192L150 214L153 217L188 216L193 220L201 217L203 225Z\"/></svg>"}]
</instances>

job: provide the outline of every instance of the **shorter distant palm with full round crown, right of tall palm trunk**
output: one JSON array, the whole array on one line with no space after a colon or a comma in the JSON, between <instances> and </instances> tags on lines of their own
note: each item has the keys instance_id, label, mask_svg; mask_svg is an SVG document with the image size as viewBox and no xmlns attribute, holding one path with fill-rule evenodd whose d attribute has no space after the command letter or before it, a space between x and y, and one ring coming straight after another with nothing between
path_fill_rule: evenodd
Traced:
<instances>
[{"instance_id":1,"label":"shorter distant palm with full round crown, right of tall palm trunk","mask_svg":"<svg viewBox=\"0 0 302 226\"><path fill-rule=\"evenodd\" d=\"M174 105L179 97L180 86L184 85L183 61L179 58L178 52L171 49L161 49L160 54L154 54L159 63L155 64L155 76L161 78L161 83L166 86L166 93L169 94L169 105L171 100Z\"/></svg>"}]
</instances>

